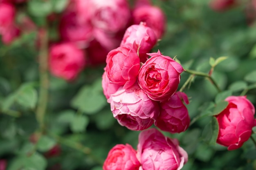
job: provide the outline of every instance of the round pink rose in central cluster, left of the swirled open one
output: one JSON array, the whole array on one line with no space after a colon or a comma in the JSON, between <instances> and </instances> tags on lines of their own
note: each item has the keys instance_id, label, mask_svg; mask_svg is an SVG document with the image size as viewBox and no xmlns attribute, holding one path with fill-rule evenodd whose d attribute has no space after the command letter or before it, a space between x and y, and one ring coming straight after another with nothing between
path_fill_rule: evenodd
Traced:
<instances>
[{"instance_id":1,"label":"round pink rose in central cluster, left of the swirled open one","mask_svg":"<svg viewBox=\"0 0 256 170\"><path fill-rule=\"evenodd\" d=\"M106 72L110 82L124 85L124 88L132 86L139 73L139 56L128 47L118 47L110 51L106 59Z\"/></svg>"}]
</instances>

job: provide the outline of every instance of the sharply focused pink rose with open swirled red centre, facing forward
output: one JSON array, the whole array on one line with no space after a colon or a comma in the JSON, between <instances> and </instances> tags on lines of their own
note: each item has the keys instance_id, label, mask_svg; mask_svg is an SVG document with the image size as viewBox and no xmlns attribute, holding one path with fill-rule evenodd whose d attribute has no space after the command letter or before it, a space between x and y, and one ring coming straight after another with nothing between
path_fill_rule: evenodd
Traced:
<instances>
[{"instance_id":1,"label":"sharply focused pink rose with open swirled red centre, facing forward","mask_svg":"<svg viewBox=\"0 0 256 170\"><path fill-rule=\"evenodd\" d=\"M150 99L168 100L177 90L180 74L184 69L171 57L148 53L151 57L141 66L138 75L139 86Z\"/></svg>"}]
</instances>

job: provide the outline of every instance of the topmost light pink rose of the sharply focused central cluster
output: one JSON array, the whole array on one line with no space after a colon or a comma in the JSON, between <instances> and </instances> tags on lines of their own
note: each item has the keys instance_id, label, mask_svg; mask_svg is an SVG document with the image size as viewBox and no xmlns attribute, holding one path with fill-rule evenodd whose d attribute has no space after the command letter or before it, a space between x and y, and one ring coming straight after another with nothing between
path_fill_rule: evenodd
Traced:
<instances>
[{"instance_id":1,"label":"topmost light pink rose of the sharply focused central cluster","mask_svg":"<svg viewBox=\"0 0 256 170\"><path fill-rule=\"evenodd\" d=\"M153 29L146 25L146 22L131 25L126 29L124 38L120 46L129 46L135 51L139 50L139 58L141 62L146 62L150 50L157 43L157 37Z\"/></svg>"}]
</instances>

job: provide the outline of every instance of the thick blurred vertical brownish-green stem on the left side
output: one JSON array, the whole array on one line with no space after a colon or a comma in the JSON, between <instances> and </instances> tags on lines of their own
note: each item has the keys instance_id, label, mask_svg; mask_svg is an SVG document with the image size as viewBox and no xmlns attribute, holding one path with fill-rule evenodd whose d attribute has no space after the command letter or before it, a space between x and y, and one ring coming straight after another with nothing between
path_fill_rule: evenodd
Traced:
<instances>
[{"instance_id":1,"label":"thick blurred vertical brownish-green stem on the left side","mask_svg":"<svg viewBox=\"0 0 256 170\"><path fill-rule=\"evenodd\" d=\"M39 99L36 108L36 119L39 123L40 131L44 130L44 118L47 109L48 100L48 30L47 26L43 29L43 35L40 36L40 49L39 49Z\"/></svg>"}]
</instances>

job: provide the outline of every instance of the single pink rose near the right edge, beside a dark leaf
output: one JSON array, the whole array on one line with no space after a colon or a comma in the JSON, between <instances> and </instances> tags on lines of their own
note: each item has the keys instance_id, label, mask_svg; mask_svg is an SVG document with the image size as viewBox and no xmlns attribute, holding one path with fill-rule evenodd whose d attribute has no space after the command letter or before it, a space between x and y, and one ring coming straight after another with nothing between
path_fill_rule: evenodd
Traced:
<instances>
[{"instance_id":1,"label":"single pink rose near the right edge, beside a dark leaf","mask_svg":"<svg viewBox=\"0 0 256 170\"><path fill-rule=\"evenodd\" d=\"M217 143L234 150L251 136L255 108L245 96L229 96L225 101L229 102L227 108L216 116L220 126Z\"/></svg>"}]
</instances>

